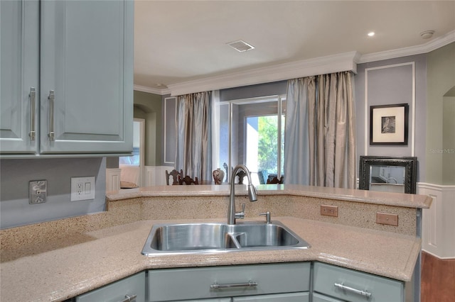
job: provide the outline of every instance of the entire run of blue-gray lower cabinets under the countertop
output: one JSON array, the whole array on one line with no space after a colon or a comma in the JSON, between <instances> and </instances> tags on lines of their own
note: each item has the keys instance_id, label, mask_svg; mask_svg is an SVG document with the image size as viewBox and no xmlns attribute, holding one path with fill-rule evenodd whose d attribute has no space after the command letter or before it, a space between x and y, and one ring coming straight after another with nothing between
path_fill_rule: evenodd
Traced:
<instances>
[{"instance_id":1,"label":"entire run of blue-gray lower cabinets under the countertop","mask_svg":"<svg viewBox=\"0 0 455 302\"><path fill-rule=\"evenodd\" d=\"M150 269L72 301L405 302L405 283L321 262Z\"/></svg>"}]
</instances>

